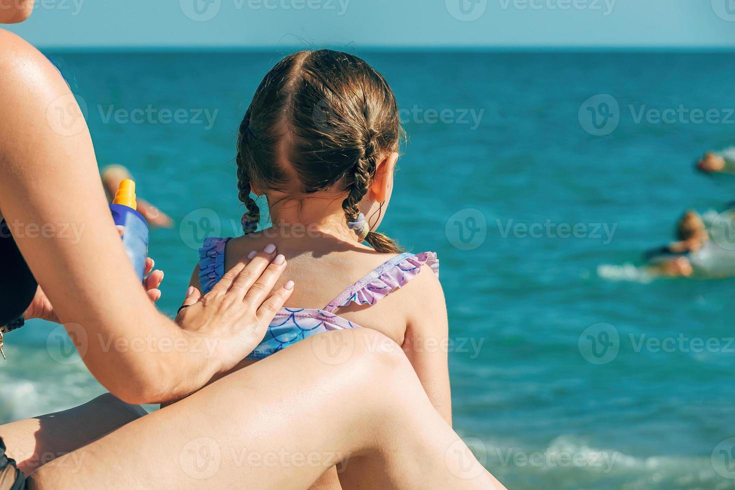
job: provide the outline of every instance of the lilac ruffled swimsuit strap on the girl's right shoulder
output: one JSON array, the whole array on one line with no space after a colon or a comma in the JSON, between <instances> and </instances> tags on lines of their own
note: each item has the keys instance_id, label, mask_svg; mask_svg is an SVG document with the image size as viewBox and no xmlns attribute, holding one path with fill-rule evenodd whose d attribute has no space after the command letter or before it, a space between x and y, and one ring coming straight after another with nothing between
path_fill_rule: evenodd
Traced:
<instances>
[{"instance_id":1,"label":"lilac ruffled swimsuit strap on the girl's right shoulder","mask_svg":"<svg viewBox=\"0 0 735 490\"><path fill-rule=\"evenodd\" d=\"M439 260L436 253L401 253L345 289L323 308L323 311L332 313L340 306L348 306L353 302L359 305L373 305L415 278L420 273L421 266L425 264L429 265L435 274L439 274Z\"/></svg>"}]
</instances>

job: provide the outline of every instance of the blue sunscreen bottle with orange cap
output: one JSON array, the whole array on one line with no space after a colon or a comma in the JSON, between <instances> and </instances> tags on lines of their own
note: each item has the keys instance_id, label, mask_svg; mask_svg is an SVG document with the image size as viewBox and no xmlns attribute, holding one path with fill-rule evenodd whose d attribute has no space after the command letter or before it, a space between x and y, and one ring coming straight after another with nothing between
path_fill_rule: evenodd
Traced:
<instances>
[{"instance_id":1,"label":"blue sunscreen bottle with orange cap","mask_svg":"<svg viewBox=\"0 0 735 490\"><path fill-rule=\"evenodd\" d=\"M110 204L110 211L115 225L125 227L123 246L138 279L143 282L148 256L148 223L146 218L137 212L134 181L124 179L120 182L118 192L115 192L115 199Z\"/></svg>"}]
</instances>

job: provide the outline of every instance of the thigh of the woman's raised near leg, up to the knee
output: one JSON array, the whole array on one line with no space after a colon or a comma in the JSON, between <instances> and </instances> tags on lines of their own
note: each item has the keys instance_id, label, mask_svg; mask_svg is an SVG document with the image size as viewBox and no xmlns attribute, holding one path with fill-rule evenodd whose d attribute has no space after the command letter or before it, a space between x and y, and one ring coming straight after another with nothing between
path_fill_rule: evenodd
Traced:
<instances>
[{"instance_id":1,"label":"thigh of the woman's raised near leg, up to the knee","mask_svg":"<svg viewBox=\"0 0 735 490\"><path fill-rule=\"evenodd\" d=\"M374 422L384 412L377 389L395 391L382 380L411 372L407 361L398 367L403 353L368 353L379 334L356 330L306 339L227 375L43 466L30 488L306 489L373 445L381 434L354 421ZM406 391L422 394L414 384Z\"/></svg>"}]
</instances>

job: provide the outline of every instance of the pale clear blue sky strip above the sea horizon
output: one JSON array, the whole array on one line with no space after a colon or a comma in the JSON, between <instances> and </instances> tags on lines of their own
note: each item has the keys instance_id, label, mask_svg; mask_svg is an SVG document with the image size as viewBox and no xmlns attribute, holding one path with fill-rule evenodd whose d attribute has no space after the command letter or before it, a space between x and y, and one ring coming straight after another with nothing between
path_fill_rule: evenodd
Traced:
<instances>
[{"instance_id":1,"label":"pale clear blue sky strip above the sea horizon","mask_svg":"<svg viewBox=\"0 0 735 490\"><path fill-rule=\"evenodd\" d=\"M37 46L735 47L735 0L36 0Z\"/></svg>"}]
</instances>

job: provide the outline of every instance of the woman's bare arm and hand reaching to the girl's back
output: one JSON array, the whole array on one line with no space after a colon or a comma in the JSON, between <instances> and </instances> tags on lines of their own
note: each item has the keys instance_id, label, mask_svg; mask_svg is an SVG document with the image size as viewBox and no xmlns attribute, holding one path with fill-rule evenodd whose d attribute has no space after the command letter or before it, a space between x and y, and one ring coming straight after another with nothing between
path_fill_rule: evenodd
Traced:
<instances>
[{"instance_id":1,"label":"woman's bare arm and hand reaching to the girl's back","mask_svg":"<svg viewBox=\"0 0 735 490\"><path fill-rule=\"evenodd\" d=\"M0 29L0 46L0 209L87 367L130 403L193 392L229 370L290 295L279 290L254 313L265 292L248 289L273 255L231 271L237 290L213 292L185 309L182 328L160 314L129 265L68 85L20 37ZM269 270L279 275L283 266ZM268 290L274 281L265 279Z\"/></svg>"}]
</instances>

